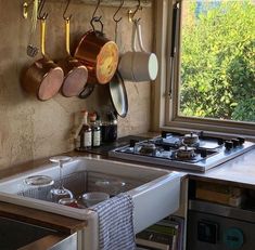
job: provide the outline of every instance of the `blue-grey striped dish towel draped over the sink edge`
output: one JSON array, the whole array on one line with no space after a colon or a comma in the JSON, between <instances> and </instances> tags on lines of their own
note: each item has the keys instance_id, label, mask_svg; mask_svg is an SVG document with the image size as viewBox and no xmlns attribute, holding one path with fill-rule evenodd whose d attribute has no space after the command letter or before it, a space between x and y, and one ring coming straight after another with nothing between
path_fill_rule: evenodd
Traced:
<instances>
[{"instance_id":1,"label":"blue-grey striped dish towel draped over the sink edge","mask_svg":"<svg viewBox=\"0 0 255 250\"><path fill-rule=\"evenodd\" d=\"M126 193L90 208L99 216L100 250L135 250L133 201Z\"/></svg>"}]
</instances>

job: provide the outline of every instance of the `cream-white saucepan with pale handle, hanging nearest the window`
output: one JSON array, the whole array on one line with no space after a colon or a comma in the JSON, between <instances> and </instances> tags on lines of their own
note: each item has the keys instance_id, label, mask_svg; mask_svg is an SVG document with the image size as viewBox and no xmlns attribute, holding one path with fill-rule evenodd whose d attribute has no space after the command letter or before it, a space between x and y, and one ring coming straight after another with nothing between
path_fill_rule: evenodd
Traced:
<instances>
[{"instance_id":1,"label":"cream-white saucepan with pale handle, hanging nearest the window","mask_svg":"<svg viewBox=\"0 0 255 250\"><path fill-rule=\"evenodd\" d=\"M138 43L140 51L136 45ZM122 55L118 70L125 80L130 81L152 81L155 80L158 71L157 57L154 53L145 51L141 35L141 25L139 19L133 21L132 29L132 51Z\"/></svg>"}]
</instances>

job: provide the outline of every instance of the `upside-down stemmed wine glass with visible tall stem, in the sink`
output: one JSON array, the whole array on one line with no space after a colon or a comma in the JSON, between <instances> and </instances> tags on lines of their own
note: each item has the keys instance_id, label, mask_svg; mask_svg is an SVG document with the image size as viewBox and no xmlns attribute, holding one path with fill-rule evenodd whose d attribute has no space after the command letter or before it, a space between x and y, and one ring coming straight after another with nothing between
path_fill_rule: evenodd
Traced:
<instances>
[{"instance_id":1,"label":"upside-down stemmed wine glass with visible tall stem, in the sink","mask_svg":"<svg viewBox=\"0 0 255 250\"><path fill-rule=\"evenodd\" d=\"M52 200L53 202L59 202L60 199L63 198L73 198L72 192L64 188L62 177L63 163L69 161L72 158L68 156L54 156L50 158L51 162L58 162L60 167L60 185L59 187L54 187L50 190L50 200Z\"/></svg>"}]
</instances>

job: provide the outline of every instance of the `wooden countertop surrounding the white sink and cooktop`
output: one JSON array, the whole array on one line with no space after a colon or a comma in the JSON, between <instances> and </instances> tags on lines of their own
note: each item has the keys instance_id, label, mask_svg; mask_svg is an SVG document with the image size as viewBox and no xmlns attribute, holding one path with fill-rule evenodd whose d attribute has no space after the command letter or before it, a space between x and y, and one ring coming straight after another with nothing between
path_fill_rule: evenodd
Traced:
<instances>
[{"instance_id":1,"label":"wooden countertop surrounding the white sink and cooktop","mask_svg":"<svg viewBox=\"0 0 255 250\"><path fill-rule=\"evenodd\" d=\"M78 152L71 152L65 155L90 156L90 157L102 158L102 159L107 158L106 156L103 156L103 155L78 153ZM109 158L109 159L117 160L113 158ZM0 171L0 177L3 179L3 177L11 176L13 174L18 174L20 172L38 168L39 166L43 163L49 163L49 160L41 159L41 160L30 161L30 162L26 162L26 163L16 166L14 168L11 168L10 170L2 170ZM155 167L155 166L152 166L152 167ZM173 169L173 170L176 170L176 169ZM217 166L206 171L206 173L187 172L187 176L189 176L190 179L194 179L194 180L205 180L205 181L211 181L211 182L213 181L216 183L229 183L229 184L234 184L235 186L243 186L243 187L247 187L251 189L255 189L255 149L248 153L245 153L244 155L241 155L234 159L231 159L220 166ZM24 207L20 207L16 205L10 205L5 202L0 202L0 215L12 218L12 219L18 219L21 221L25 221L28 223L36 223L38 225L55 228L65 234L72 234L86 226L85 221L79 221L79 220L61 216L58 214L34 210L29 208L24 208Z\"/></svg>"}]
</instances>

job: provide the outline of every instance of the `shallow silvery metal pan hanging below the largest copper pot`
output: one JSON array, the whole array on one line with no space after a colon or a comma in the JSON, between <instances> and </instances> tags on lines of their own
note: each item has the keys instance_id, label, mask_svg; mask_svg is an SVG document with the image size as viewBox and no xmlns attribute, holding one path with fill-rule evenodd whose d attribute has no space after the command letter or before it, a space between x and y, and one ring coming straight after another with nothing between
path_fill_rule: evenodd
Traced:
<instances>
[{"instance_id":1,"label":"shallow silvery metal pan hanging below the largest copper pot","mask_svg":"<svg viewBox=\"0 0 255 250\"><path fill-rule=\"evenodd\" d=\"M116 71L109 83L110 95L115 111L120 117L126 117L128 111L127 91L122 75Z\"/></svg>"}]
</instances>

